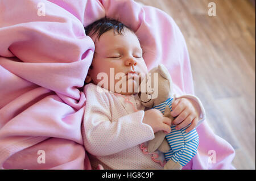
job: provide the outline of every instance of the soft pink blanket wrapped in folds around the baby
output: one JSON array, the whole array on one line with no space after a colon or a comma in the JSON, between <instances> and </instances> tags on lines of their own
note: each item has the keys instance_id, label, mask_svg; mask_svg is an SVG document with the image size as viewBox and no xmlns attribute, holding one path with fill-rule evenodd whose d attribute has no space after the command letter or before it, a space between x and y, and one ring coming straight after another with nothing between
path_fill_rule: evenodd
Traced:
<instances>
[{"instance_id":1,"label":"soft pink blanket wrapped in folds around the baby","mask_svg":"<svg viewBox=\"0 0 256 181\"><path fill-rule=\"evenodd\" d=\"M94 51L84 26L105 15L133 28L148 69L163 63L180 90L193 94L183 35L163 11L125 0L2 0L2 169L91 169L80 131L86 98L79 87ZM206 121L197 131L199 154L184 169L233 169L232 146Z\"/></svg>"}]
</instances>

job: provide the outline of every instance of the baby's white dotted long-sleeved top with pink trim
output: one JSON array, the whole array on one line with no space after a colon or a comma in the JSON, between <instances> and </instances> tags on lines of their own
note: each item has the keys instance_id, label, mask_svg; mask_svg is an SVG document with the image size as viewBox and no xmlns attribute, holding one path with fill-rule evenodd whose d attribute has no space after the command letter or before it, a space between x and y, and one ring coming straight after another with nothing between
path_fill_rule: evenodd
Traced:
<instances>
[{"instance_id":1,"label":"baby's white dotted long-sleeved top with pink trim","mask_svg":"<svg viewBox=\"0 0 256 181\"><path fill-rule=\"evenodd\" d=\"M145 107L137 94L123 96L89 83L82 137L92 167L104 169L163 169L143 154L140 144L152 140L152 128L142 123ZM135 108L135 109L134 109Z\"/></svg>"}]
</instances>

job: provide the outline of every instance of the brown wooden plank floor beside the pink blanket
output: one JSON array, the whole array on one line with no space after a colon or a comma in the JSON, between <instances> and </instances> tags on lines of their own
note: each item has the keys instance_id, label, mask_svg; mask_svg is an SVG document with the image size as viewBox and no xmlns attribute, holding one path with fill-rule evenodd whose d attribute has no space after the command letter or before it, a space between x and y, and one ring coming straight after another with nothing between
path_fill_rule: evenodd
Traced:
<instances>
[{"instance_id":1,"label":"brown wooden plank floor beside the pink blanket","mask_svg":"<svg viewBox=\"0 0 256 181\"><path fill-rule=\"evenodd\" d=\"M180 27L195 93L213 131L236 149L233 165L255 169L255 7L247 0L137 0ZM216 16L208 3L216 3Z\"/></svg>"}]
</instances>

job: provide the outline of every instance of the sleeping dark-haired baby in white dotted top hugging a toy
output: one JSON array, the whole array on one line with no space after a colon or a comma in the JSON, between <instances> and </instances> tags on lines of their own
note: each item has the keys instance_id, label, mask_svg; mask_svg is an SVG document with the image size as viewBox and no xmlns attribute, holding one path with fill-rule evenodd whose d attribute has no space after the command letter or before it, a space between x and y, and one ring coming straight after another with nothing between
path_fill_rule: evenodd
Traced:
<instances>
[{"instance_id":1,"label":"sleeping dark-haired baby in white dotted top hugging a toy","mask_svg":"<svg viewBox=\"0 0 256 181\"><path fill-rule=\"evenodd\" d=\"M82 123L84 146L93 169L98 164L104 169L163 169L140 146L152 140L156 132L171 132L171 119L159 110L146 110L138 98L137 88L148 71L138 37L129 27L108 18L85 27L85 32L95 44L85 79ZM171 115L176 117L172 124L176 129L191 124L186 129L189 132L203 120L203 109L196 97L177 97L172 104Z\"/></svg>"}]
</instances>

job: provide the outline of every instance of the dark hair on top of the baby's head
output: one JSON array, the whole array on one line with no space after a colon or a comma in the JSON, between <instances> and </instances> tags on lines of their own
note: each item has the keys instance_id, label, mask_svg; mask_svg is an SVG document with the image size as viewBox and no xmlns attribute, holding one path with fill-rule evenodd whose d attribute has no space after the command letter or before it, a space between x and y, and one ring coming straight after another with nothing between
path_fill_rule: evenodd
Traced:
<instances>
[{"instance_id":1,"label":"dark hair on top of the baby's head","mask_svg":"<svg viewBox=\"0 0 256 181\"><path fill-rule=\"evenodd\" d=\"M125 27L133 32L131 28L127 27L118 20L104 17L96 22L93 22L92 24L89 24L84 28L84 30L86 35L93 36L96 34L98 39L100 39L100 36L109 30L114 30L114 33L117 33L117 35L123 35L123 28Z\"/></svg>"}]
</instances>

